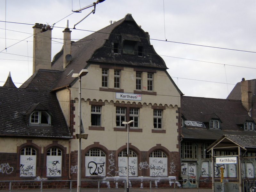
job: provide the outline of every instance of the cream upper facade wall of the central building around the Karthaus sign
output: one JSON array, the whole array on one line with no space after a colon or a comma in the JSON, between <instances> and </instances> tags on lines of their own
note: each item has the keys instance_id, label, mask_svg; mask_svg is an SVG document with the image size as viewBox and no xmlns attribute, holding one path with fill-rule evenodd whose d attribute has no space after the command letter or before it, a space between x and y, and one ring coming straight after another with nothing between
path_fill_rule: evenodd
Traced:
<instances>
[{"instance_id":1,"label":"cream upper facade wall of the central building around the Karthaus sign","mask_svg":"<svg viewBox=\"0 0 256 192\"><path fill-rule=\"evenodd\" d=\"M180 95L172 84L171 80L165 71L157 71L154 74L154 92L157 95L142 95L141 101L135 100L119 100L116 99L116 92L99 91L101 87L101 68L98 65L90 65L88 67L89 73L82 77L82 108L81 116L85 130L85 134L89 134L87 140L82 140L82 149L93 142L100 142L101 145L108 148L108 150L117 150L121 146L126 145L127 132L114 131L116 127L116 107L114 103L120 102L124 104L132 104L133 102L142 104L140 108L139 128L143 132L130 132L130 143L141 151L148 151L150 148L155 147L156 144L161 144L170 151L178 152L178 119L176 113L180 107ZM114 69L109 69L109 88L114 88ZM135 90L136 72L133 68L124 68L121 71L121 89L124 92L133 93ZM147 86L147 73L143 73L143 84ZM71 98L76 100L76 125L74 128L78 130L78 81L71 88ZM91 126L91 105L89 101L104 102L101 111L101 126L105 131L89 130ZM165 106L163 111L163 129L166 133L152 133L153 127L153 109L152 105ZM77 141L71 140L72 151L77 150Z\"/></svg>"}]
</instances>

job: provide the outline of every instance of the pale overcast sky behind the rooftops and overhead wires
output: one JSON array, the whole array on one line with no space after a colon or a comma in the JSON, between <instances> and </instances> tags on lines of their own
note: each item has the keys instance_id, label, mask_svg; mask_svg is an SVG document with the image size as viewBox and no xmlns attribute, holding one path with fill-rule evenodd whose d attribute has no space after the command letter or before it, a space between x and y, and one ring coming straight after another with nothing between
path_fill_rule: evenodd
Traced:
<instances>
[{"instance_id":1,"label":"pale overcast sky behind the rooftops and overhead wires","mask_svg":"<svg viewBox=\"0 0 256 192\"><path fill-rule=\"evenodd\" d=\"M96 5L95 14L72 29L93 8L71 14L72 9L95 1L0 0L0 86L9 71L17 87L32 75L35 23L56 23L52 30L52 37L56 38L52 41L53 58L62 47L67 19L71 38L76 41L127 13L149 33L150 43L186 96L225 99L243 77L255 79L255 0L105 0Z\"/></svg>"}]
</instances>

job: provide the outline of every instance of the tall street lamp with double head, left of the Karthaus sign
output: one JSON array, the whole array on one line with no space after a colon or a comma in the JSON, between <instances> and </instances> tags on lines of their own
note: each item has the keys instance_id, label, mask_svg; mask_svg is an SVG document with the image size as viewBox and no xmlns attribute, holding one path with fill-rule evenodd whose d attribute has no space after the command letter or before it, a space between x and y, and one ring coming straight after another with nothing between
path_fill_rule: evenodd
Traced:
<instances>
[{"instance_id":1,"label":"tall street lamp with double head, left of the Karthaus sign","mask_svg":"<svg viewBox=\"0 0 256 192\"><path fill-rule=\"evenodd\" d=\"M87 139L88 134L81 134L81 77L88 73L87 69L82 69L80 73L73 73L72 77L79 78L79 95L78 95L78 151L77 151L77 192L81 192L81 139Z\"/></svg>"}]
</instances>

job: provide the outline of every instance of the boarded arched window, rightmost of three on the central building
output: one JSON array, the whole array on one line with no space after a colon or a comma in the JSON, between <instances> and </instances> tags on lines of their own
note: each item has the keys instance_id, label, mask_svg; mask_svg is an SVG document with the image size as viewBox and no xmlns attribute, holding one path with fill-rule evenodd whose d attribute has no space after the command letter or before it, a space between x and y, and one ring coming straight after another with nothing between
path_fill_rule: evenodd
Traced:
<instances>
[{"instance_id":1,"label":"boarded arched window, rightmost of three on the central building","mask_svg":"<svg viewBox=\"0 0 256 192\"><path fill-rule=\"evenodd\" d=\"M161 150L155 150L149 155L150 176L167 177L167 155Z\"/></svg>"}]
</instances>

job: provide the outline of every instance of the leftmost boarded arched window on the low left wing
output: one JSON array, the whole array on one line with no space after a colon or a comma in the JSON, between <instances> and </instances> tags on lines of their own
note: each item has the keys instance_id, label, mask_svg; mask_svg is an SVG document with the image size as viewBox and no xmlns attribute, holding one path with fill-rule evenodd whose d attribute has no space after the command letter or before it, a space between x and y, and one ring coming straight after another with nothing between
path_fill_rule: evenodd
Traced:
<instances>
[{"instance_id":1,"label":"leftmost boarded arched window on the low left wing","mask_svg":"<svg viewBox=\"0 0 256 192\"><path fill-rule=\"evenodd\" d=\"M32 147L20 151L20 177L36 177L36 150Z\"/></svg>"}]
</instances>

